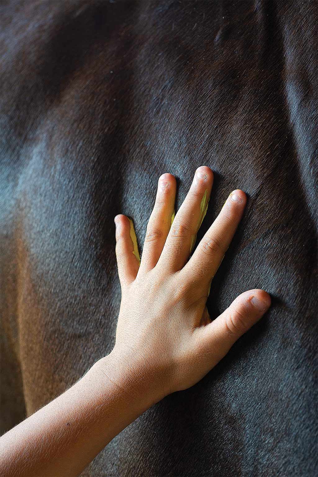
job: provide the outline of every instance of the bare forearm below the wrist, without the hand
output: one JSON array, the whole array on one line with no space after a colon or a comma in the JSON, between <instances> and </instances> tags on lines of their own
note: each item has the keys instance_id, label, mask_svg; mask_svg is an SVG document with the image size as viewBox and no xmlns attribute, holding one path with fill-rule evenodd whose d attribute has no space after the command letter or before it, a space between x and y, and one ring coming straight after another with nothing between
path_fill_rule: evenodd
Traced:
<instances>
[{"instance_id":1,"label":"bare forearm below the wrist, without the hand","mask_svg":"<svg viewBox=\"0 0 318 477\"><path fill-rule=\"evenodd\" d=\"M111 353L4 434L0 475L79 475L114 436L160 399L134 375L136 369L123 369Z\"/></svg>"}]
</instances>

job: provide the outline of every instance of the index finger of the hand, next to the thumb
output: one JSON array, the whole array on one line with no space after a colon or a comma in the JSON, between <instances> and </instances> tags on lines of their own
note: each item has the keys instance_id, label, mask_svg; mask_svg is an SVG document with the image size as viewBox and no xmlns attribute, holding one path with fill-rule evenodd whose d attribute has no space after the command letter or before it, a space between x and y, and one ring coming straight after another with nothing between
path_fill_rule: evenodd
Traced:
<instances>
[{"instance_id":1,"label":"index finger of the hand, next to the thumb","mask_svg":"<svg viewBox=\"0 0 318 477\"><path fill-rule=\"evenodd\" d=\"M246 194L240 189L234 190L181 270L185 280L209 286L233 239L245 206Z\"/></svg>"}]
</instances>

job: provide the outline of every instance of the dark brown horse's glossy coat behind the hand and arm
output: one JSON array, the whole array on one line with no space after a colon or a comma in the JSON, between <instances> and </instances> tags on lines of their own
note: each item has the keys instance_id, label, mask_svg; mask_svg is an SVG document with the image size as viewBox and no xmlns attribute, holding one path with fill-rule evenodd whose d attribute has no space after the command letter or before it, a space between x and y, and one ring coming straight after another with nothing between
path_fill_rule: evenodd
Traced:
<instances>
[{"instance_id":1,"label":"dark brown horse's glossy coat behind the hand and arm","mask_svg":"<svg viewBox=\"0 0 318 477\"><path fill-rule=\"evenodd\" d=\"M210 314L273 305L82 475L316 475L317 2L2 1L1 23L2 432L111 351L113 217L142 246L158 177L179 207L207 165L202 233L249 197Z\"/></svg>"}]
</instances>

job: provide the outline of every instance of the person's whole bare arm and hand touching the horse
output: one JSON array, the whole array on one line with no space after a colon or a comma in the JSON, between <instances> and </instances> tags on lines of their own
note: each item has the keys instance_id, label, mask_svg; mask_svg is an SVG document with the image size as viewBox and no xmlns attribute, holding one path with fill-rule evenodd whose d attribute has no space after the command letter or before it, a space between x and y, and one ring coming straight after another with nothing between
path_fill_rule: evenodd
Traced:
<instances>
[{"instance_id":1,"label":"person's whole bare arm and hand touching the horse","mask_svg":"<svg viewBox=\"0 0 318 477\"><path fill-rule=\"evenodd\" d=\"M171 225L175 178L159 178L141 262L131 221L116 216L122 301L113 351L0 438L0 475L79 475L146 409L202 379L267 311L270 296L254 289L210 320L210 284L246 205L233 191L189 259L212 184L211 169L199 167Z\"/></svg>"}]
</instances>

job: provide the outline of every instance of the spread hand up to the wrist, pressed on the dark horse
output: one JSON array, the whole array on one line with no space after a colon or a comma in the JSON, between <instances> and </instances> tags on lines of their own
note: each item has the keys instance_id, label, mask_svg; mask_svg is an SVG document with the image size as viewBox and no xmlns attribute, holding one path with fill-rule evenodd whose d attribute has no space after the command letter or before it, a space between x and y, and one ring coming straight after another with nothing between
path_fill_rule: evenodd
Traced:
<instances>
[{"instance_id":1,"label":"spread hand up to the wrist, pressed on the dark horse","mask_svg":"<svg viewBox=\"0 0 318 477\"><path fill-rule=\"evenodd\" d=\"M122 301L111 354L134 370L134 379L153 383L156 400L203 378L271 303L266 291L249 290L214 321L209 318L211 280L246 205L243 191L232 192L188 260L212 183L211 169L199 167L171 225L176 182L171 174L159 178L141 262L132 222L115 218Z\"/></svg>"}]
</instances>

